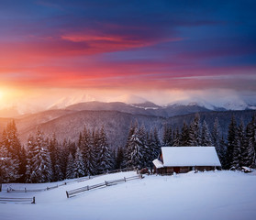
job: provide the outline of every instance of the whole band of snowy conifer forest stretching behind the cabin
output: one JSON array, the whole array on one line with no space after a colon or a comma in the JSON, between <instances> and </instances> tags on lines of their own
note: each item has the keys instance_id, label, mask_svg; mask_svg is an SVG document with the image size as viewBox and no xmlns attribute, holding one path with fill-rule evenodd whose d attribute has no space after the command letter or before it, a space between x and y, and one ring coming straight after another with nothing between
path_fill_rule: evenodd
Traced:
<instances>
[{"instance_id":1,"label":"whole band of snowy conifer forest stretching behind the cabin","mask_svg":"<svg viewBox=\"0 0 256 220\"><path fill-rule=\"evenodd\" d=\"M40 127L22 145L16 122L9 122L3 131L0 146L1 182L49 182L107 173L125 168L153 169L152 160L160 156L161 147L214 146L222 169L239 170L242 166L255 168L256 117L247 125L233 116L228 137L222 135L216 117L213 129L200 115L181 129L164 125L159 135L155 127L145 127L133 121L127 130L125 146L112 148L108 144L105 126L77 134L77 141L47 137Z\"/></svg>"}]
</instances>

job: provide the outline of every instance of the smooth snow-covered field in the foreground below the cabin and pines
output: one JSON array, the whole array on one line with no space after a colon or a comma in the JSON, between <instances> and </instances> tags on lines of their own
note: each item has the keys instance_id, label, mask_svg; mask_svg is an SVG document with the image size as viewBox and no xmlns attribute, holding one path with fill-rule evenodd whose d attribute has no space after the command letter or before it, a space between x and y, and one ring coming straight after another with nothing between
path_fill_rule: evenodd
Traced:
<instances>
[{"instance_id":1,"label":"smooth snow-covered field in the foreground below the cabin and pines","mask_svg":"<svg viewBox=\"0 0 256 220\"><path fill-rule=\"evenodd\" d=\"M0 192L0 197L36 197L36 204L0 203L1 220L249 220L256 219L256 170L145 176L67 199L65 191L136 175L119 172L44 192ZM61 182L59 182L61 184ZM40 189L54 183L10 184ZM4 190L6 189L4 185Z\"/></svg>"}]
</instances>

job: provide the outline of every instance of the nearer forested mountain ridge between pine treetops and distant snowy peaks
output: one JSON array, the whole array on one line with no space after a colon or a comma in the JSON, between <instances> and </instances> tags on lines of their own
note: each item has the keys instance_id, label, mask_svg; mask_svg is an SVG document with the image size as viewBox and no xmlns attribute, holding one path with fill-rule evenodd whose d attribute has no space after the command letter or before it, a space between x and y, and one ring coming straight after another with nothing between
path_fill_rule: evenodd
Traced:
<instances>
[{"instance_id":1,"label":"nearer forested mountain ridge between pine treetops and distant snowy peaks","mask_svg":"<svg viewBox=\"0 0 256 220\"><path fill-rule=\"evenodd\" d=\"M0 118L0 132L3 131L7 122L12 118L16 120L19 138L26 144L29 134L35 134L36 128L41 127L46 136L51 137L54 133L59 140L64 138L77 141L79 133L86 126L90 129L105 126L106 135L110 146L117 148L124 146L128 137L128 129L132 122L138 121L148 131L156 128L159 137L165 124L181 128L186 122L194 119L195 113L199 113L201 123L206 120L212 129L214 120L219 120L222 134L227 137L228 124L232 115L237 121L242 118L246 125L255 110L227 111L226 109L210 110L196 103L170 104L160 106L150 102L138 104L125 104L121 102L85 102L71 104L62 109L50 109L36 114L19 115L17 117Z\"/></svg>"}]
</instances>

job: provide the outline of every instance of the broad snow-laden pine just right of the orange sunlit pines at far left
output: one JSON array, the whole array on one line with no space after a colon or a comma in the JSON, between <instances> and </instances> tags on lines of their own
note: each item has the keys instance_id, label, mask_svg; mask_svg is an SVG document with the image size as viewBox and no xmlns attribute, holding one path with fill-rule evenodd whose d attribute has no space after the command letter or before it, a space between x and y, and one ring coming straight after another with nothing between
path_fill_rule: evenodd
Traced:
<instances>
[{"instance_id":1,"label":"broad snow-laden pine just right of the orange sunlit pines at far left","mask_svg":"<svg viewBox=\"0 0 256 220\"><path fill-rule=\"evenodd\" d=\"M49 147L44 139L41 130L38 128L32 159L32 182L50 181L52 177Z\"/></svg>"}]
</instances>

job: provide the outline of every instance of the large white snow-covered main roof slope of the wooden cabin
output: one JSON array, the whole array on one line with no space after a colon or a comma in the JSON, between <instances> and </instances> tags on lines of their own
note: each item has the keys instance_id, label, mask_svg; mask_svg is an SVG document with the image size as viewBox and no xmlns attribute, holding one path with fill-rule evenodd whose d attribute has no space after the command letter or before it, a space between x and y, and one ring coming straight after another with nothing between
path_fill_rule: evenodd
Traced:
<instances>
[{"instance_id":1,"label":"large white snow-covered main roof slope of the wooden cabin","mask_svg":"<svg viewBox=\"0 0 256 220\"><path fill-rule=\"evenodd\" d=\"M161 153L164 167L221 166L215 147L162 147Z\"/></svg>"}]
</instances>

